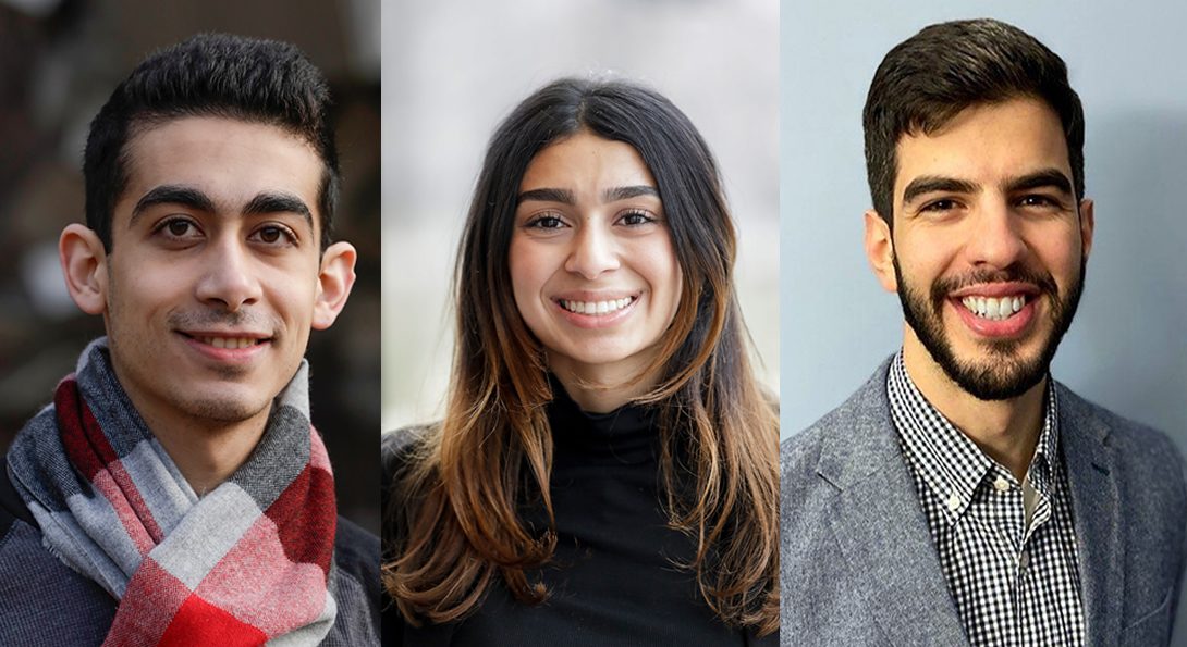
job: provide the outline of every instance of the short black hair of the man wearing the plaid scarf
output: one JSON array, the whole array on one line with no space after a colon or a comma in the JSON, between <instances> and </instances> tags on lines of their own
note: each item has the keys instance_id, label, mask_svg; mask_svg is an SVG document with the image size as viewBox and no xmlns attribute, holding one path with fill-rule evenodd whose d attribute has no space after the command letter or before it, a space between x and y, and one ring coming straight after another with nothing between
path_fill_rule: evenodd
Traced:
<instances>
[{"instance_id":1,"label":"short black hair of the man wearing the plaid scarf","mask_svg":"<svg viewBox=\"0 0 1187 647\"><path fill-rule=\"evenodd\" d=\"M317 152L324 164L318 211L325 249L339 184L329 113L329 83L288 43L202 33L160 50L115 88L90 123L83 155L87 226L110 252L113 210L128 181L128 141L138 133L173 118L229 117L277 126Z\"/></svg>"}]
</instances>

